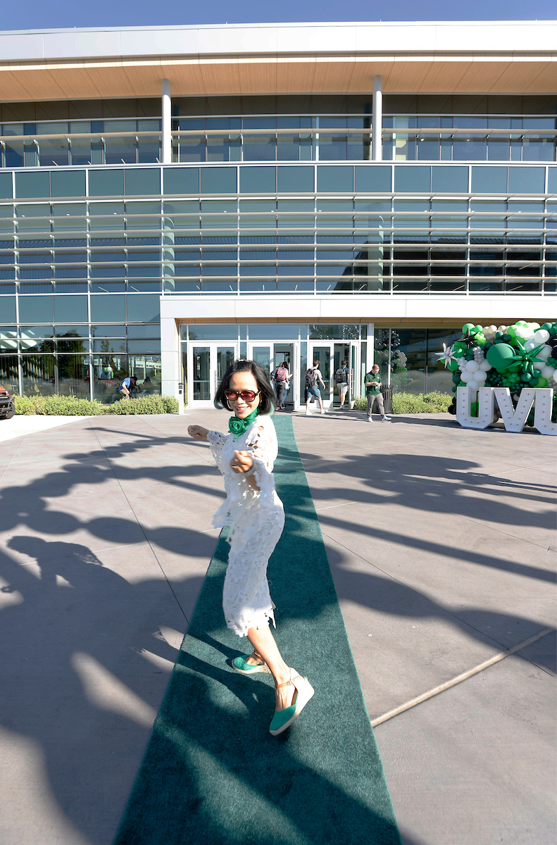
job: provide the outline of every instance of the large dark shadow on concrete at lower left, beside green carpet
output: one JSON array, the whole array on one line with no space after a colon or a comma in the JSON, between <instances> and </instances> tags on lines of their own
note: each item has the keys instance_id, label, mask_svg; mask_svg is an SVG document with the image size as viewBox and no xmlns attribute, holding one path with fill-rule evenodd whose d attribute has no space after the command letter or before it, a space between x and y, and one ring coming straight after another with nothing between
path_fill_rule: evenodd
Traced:
<instances>
[{"instance_id":1,"label":"large dark shadow on concrete at lower left, beside green carpet","mask_svg":"<svg viewBox=\"0 0 557 845\"><path fill-rule=\"evenodd\" d=\"M161 625L186 621L163 575L131 584L79 543L19 535L8 548L30 561L0 553L13 596L0 612L2 724L35 739L60 809L106 845L176 659Z\"/></svg>"}]
</instances>

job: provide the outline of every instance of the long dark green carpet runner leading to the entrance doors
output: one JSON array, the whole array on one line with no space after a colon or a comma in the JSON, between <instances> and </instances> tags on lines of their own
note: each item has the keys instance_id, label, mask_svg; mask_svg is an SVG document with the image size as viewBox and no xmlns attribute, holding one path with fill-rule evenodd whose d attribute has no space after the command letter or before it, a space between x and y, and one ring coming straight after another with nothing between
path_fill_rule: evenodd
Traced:
<instances>
[{"instance_id":1,"label":"long dark green carpet runner leading to the entrance doors","mask_svg":"<svg viewBox=\"0 0 557 845\"><path fill-rule=\"evenodd\" d=\"M271 676L230 667L250 648L224 624L221 537L115 845L400 845L292 418L275 424L287 515L269 565L276 640L314 698L270 735Z\"/></svg>"}]
</instances>

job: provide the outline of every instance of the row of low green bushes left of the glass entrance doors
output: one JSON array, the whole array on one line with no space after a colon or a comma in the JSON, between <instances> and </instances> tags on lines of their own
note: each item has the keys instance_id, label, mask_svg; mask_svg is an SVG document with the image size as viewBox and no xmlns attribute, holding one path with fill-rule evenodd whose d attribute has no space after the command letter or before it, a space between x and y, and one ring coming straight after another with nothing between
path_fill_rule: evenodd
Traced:
<instances>
[{"instance_id":1,"label":"row of low green bushes left of the glass entrance doors","mask_svg":"<svg viewBox=\"0 0 557 845\"><path fill-rule=\"evenodd\" d=\"M172 414L178 409L174 396L137 396L113 405L75 396L15 396L16 414L48 417L99 417L106 414Z\"/></svg>"}]
</instances>

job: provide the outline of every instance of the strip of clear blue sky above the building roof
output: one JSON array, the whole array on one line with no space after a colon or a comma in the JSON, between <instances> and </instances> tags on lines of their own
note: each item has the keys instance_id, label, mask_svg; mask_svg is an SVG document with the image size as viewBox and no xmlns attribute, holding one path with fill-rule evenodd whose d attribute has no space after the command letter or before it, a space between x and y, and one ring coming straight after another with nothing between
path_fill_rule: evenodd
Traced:
<instances>
[{"instance_id":1,"label":"strip of clear blue sky above the building roof","mask_svg":"<svg viewBox=\"0 0 557 845\"><path fill-rule=\"evenodd\" d=\"M549 20L557 18L555 0L281 0L262 3L154 3L153 0L3 0L2 30L59 29L74 26L151 26L195 24L281 23L360 20Z\"/></svg>"}]
</instances>

